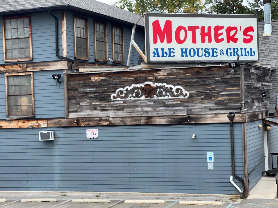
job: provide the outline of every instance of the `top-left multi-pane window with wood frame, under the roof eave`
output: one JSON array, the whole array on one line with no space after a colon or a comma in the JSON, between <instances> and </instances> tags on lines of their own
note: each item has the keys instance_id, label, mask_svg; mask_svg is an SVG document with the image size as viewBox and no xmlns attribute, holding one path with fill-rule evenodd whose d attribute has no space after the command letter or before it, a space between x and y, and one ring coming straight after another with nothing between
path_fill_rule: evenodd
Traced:
<instances>
[{"instance_id":1,"label":"top-left multi-pane window with wood frame, under the roof eave","mask_svg":"<svg viewBox=\"0 0 278 208\"><path fill-rule=\"evenodd\" d=\"M3 18L4 61L32 60L30 16Z\"/></svg>"}]
</instances>

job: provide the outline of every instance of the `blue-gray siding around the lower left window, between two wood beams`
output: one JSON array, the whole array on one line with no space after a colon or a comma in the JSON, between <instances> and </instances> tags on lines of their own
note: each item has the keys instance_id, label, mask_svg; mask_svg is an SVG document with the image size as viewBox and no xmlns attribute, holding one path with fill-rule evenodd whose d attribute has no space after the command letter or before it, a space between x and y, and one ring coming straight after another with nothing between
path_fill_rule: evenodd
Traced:
<instances>
[{"instance_id":1,"label":"blue-gray siding around the lower left window, between two wood beams","mask_svg":"<svg viewBox=\"0 0 278 208\"><path fill-rule=\"evenodd\" d=\"M52 74L61 74L61 85L56 87ZM35 118L65 117L63 70L34 71ZM0 119L6 119L4 73L0 73Z\"/></svg>"}]
</instances>

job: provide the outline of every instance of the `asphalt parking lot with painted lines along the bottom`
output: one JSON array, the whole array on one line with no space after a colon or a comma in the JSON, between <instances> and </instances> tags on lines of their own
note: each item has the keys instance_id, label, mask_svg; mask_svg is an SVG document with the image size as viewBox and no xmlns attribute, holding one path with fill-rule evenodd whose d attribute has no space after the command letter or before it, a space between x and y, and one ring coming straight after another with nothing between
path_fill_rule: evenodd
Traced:
<instances>
[{"instance_id":1,"label":"asphalt parking lot with painted lines along the bottom","mask_svg":"<svg viewBox=\"0 0 278 208\"><path fill-rule=\"evenodd\" d=\"M7 200L0 203L0 208L278 208L277 199L244 199L240 203L224 203L214 205L179 205L179 201L166 201L165 204L126 204L124 200L112 200L110 203L74 203L71 199L57 202L21 202L21 200Z\"/></svg>"}]
</instances>

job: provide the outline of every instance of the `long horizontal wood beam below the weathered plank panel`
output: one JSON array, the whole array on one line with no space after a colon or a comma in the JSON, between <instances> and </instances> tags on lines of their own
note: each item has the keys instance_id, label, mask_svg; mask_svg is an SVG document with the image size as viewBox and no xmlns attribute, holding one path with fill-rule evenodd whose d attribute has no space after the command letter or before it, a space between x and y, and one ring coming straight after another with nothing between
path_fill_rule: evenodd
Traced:
<instances>
[{"instance_id":1,"label":"long horizontal wood beam below the weathered plank panel","mask_svg":"<svg viewBox=\"0 0 278 208\"><path fill-rule=\"evenodd\" d=\"M255 113L236 113L234 123L245 123L262 119L265 111ZM41 128L72 126L109 126L109 125L152 125L152 124L210 124L229 123L227 113L195 114L178 116L137 116L137 117L84 117L58 119L21 119L0 121L0 128ZM248 120L246 120L246 118ZM264 123L267 123L264 120Z\"/></svg>"}]
</instances>

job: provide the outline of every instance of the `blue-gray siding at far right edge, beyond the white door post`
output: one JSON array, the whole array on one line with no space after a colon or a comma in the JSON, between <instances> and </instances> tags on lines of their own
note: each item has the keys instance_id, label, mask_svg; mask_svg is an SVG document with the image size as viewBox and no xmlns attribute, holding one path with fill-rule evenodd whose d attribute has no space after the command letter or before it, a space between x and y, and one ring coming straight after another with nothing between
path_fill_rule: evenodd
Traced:
<instances>
[{"instance_id":1,"label":"blue-gray siding at far right edge, beyond the white door post","mask_svg":"<svg viewBox=\"0 0 278 208\"><path fill-rule=\"evenodd\" d=\"M268 161L269 168L272 169L271 163L271 154L270 153L278 153L278 127L271 126L271 130L267 131L267 139L268 139ZM273 156L273 166L277 167L277 155Z\"/></svg>"}]
</instances>

